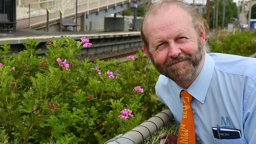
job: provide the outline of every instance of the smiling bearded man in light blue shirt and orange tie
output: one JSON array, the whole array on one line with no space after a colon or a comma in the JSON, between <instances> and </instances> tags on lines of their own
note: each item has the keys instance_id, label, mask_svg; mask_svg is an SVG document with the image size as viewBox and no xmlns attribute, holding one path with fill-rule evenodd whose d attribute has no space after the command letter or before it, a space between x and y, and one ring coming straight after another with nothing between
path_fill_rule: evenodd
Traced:
<instances>
[{"instance_id":1,"label":"smiling bearded man in light blue shirt and orange tie","mask_svg":"<svg viewBox=\"0 0 256 144\"><path fill-rule=\"evenodd\" d=\"M208 54L206 33L204 18L184 1L147 5L143 51L161 74L156 94L180 127L178 137L162 138L169 144L256 144L256 59ZM224 136L226 130L240 135Z\"/></svg>"}]
</instances>

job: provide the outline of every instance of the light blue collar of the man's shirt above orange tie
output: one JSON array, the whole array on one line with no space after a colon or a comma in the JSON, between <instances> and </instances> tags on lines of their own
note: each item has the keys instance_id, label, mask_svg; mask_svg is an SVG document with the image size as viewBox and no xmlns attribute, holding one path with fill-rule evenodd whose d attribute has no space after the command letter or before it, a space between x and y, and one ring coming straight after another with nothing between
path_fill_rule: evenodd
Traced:
<instances>
[{"instance_id":1,"label":"light blue collar of the man's shirt above orange tie","mask_svg":"<svg viewBox=\"0 0 256 144\"><path fill-rule=\"evenodd\" d=\"M196 98L199 102L204 103L204 100L206 98L206 94L208 91L208 88L210 86L211 78L213 75L213 70L215 66L215 61L214 59L208 55L205 54L205 59L204 59L204 65L202 67L201 72L193 81L193 83L189 86L187 89L187 92L191 94L194 98ZM174 83L174 81L172 81ZM174 83L176 87L176 92L178 96L180 96L180 91L184 90L182 87ZM180 99L181 102L181 99Z\"/></svg>"}]
</instances>

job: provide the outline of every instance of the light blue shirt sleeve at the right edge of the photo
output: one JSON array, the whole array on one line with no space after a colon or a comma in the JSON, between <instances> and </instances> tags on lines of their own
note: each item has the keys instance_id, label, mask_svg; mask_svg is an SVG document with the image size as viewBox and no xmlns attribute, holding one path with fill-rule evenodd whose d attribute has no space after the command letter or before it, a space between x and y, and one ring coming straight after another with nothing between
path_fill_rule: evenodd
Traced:
<instances>
[{"instance_id":1,"label":"light blue shirt sleeve at the right edge of the photo","mask_svg":"<svg viewBox=\"0 0 256 144\"><path fill-rule=\"evenodd\" d=\"M256 142L256 87L245 97L243 115L244 137L248 144Z\"/></svg>"}]
</instances>

